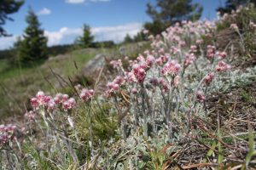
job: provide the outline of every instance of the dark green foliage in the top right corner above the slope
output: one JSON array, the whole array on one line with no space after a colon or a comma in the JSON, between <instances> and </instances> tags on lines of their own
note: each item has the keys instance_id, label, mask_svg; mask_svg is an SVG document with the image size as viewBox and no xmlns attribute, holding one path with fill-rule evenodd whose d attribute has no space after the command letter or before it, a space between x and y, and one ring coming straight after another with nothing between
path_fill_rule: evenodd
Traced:
<instances>
[{"instance_id":1,"label":"dark green foliage in the top right corner above the slope","mask_svg":"<svg viewBox=\"0 0 256 170\"><path fill-rule=\"evenodd\" d=\"M232 10L236 10L239 6L246 6L248 3L256 3L256 0L227 0L224 7L218 7L217 11L223 15L230 14Z\"/></svg>"}]
</instances>

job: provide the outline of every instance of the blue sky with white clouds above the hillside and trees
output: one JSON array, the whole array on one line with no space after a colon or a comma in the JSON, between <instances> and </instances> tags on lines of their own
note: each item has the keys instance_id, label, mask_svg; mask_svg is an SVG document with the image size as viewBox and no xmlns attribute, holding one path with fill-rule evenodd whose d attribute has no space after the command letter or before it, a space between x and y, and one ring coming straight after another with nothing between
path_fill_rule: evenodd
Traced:
<instances>
[{"instance_id":1,"label":"blue sky with white clouds above the hillside and trees","mask_svg":"<svg viewBox=\"0 0 256 170\"><path fill-rule=\"evenodd\" d=\"M214 19L215 9L224 0L194 0L201 3L204 11L201 19ZM126 33L137 34L143 22L150 20L146 14L146 4L155 0L26 0L26 3L11 17L4 28L13 37L1 37L0 49L9 48L16 37L26 28L26 13L29 7L38 14L49 46L72 43L87 23L92 28L96 40L113 40L120 42Z\"/></svg>"}]
</instances>

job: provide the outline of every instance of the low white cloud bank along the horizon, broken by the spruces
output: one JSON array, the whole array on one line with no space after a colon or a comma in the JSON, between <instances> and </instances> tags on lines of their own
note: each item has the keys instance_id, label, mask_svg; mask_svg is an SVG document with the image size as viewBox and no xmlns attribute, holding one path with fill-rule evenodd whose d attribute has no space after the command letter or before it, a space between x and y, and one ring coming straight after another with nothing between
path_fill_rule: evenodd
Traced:
<instances>
[{"instance_id":1,"label":"low white cloud bank along the horizon, broken by the spruces","mask_svg":"<svg viewBox=\"0 0 256 170\"><path fill-rule=\"evenodd\" d=\"M122 42L129 34L131 37L135 36L137 32L143 29L142 23L128 23L119 26L101 26L91 28L91 32L96 41ZM59 31L44 31L44 35L48 37L48 45L59 45L73 43L76 37L82 35L82 28L67 28L62 27ZM14 37L0 37L0 49L10 48L16 41L17 36Z\"/></svg>"}]
</instances>

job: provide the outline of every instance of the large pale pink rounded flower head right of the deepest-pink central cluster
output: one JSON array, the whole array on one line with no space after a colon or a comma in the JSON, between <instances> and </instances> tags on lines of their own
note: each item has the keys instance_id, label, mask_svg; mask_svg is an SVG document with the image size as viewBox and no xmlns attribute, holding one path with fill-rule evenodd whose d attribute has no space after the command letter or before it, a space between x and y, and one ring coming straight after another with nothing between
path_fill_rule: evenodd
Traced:
<instances>
[{"instance_id":1,"label":"large pale pink rounded flower head right of the deepest-pink central cluster","mask_svg":"<svg viewBox=\"0 0 256 170\"><path fill-rule=\"evenodd\" d=\"M176 76L178 71L180 71L181 66L175 61L171 60L161 70L161 74L164 76L172 75Z\"/></svg>"}]
</instances>

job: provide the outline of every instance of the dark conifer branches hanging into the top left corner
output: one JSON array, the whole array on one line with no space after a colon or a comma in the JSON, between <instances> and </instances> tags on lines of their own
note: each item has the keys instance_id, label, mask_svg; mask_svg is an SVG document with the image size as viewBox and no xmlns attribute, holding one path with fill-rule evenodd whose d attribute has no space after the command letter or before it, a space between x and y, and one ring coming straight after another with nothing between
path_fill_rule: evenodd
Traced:
<instances>
[{"instance_id":1,"label":"dark conifer branches hanging into the top left corner","mask_svg":"<svg viewBox=\"0 0 256 170\"><path fill-rule=\"evenodd\" d=\"M0 37L9 36L3 29L6 20L13 20L8 15L13 14L19 10L24 1L16 0L1 0L0 1Z\"/></svg>"}]
</instances>

